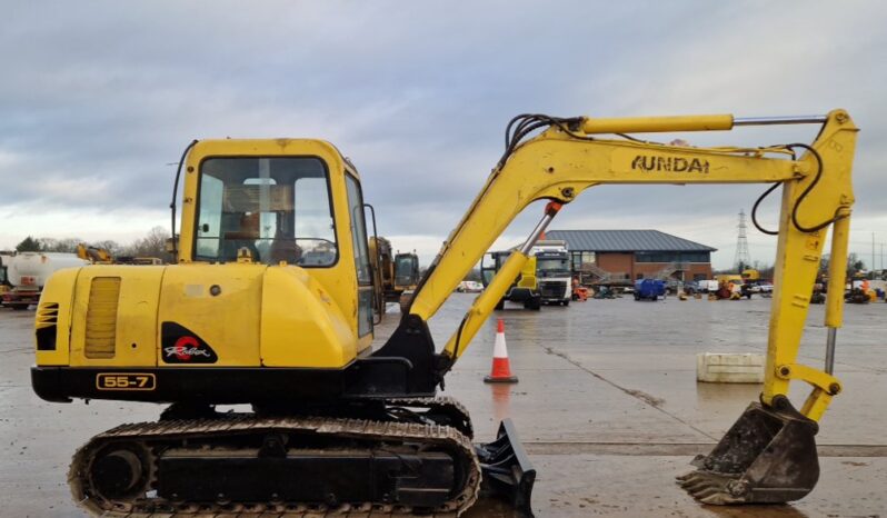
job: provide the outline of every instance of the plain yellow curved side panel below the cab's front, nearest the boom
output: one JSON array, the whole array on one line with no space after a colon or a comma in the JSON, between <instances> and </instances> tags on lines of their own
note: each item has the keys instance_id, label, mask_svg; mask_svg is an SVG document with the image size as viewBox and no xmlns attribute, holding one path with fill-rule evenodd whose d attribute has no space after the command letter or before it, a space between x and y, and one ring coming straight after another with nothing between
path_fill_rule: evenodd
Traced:
<instances>
[{"instance_id":1,"label":"plain yellow curved side panel below the cab's front, nearest the boom","mask_svg":"<svg viewBox=\"0 0 887 518\"><path fill-rule=\"evenodd\" d=\"M348 318L306 270L268 268L262 308L263 366L342 368L357 357Z\"/></svg>"}]
</instances>

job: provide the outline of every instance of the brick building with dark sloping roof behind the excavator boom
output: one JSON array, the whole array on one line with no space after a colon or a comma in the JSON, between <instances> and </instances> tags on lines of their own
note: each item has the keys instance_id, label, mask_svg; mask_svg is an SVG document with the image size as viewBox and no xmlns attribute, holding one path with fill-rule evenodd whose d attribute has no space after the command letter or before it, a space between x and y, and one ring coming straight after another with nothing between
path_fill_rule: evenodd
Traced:
<instances>
[{"instance_id":1,"label":"brick building with dark sloping roof behind the excavator boom","mask_svg":"<svg viewBox=\"0 0 887 518\"><path fill-rule=\"evenodd\" d=\"M614 283L711 279L717 250L658 230L549 230L546 239L567 241L572 271L584 281Z\"/></svg>"}]
</instances>

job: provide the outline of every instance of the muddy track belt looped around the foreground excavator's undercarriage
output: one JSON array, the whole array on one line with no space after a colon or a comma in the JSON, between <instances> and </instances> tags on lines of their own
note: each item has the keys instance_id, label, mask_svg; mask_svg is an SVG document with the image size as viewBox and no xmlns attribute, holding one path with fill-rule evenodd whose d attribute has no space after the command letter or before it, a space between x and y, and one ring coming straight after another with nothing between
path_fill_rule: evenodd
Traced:
<instances>
[{"instance_id":1,"label":"muddy track belt looped around the foreground excavator's undercarriage","mask_svg":"<svg viewBox=\"0 0 887 518\"><path fill-rule=\"evenodd\" d=\"M435 398L428 398L435 399ZM406 401L401 402L406 404ZM413 402L418 405L418 402ZM412 509L401 505L380 505L363 502L361 505L343 504L336 508L325 505L291 504L265 505L239 504L236 510L227 505L225 509L218 505L205 506L197 504L177 502L172 505L161 498L151 499L150 502L133 501L131 508L109 509L101 502L86 496L84 489L89 486L87 467L90 456L107 444L122 440L137 442L151 442L163 440L181 440L185 438L199 440L211 435L238 435L245 432L290 430L295 432L313 432L342 438L362 438L378 441L413 440L426 444L445 446L449 450L460 450L464 454L464 465L468 466L466 487L456 498L441 505L435 512L426 516L455 518L471 507L477 500L480 488L480 464L470 440L455 428L439 425L421 425L399 421L369 421L363 419L338 419L318 417L280 417L261 418L252 415L233 417L219 417L210 419L182 419L160 422L140 422L121 425L111 430L94 436L82 446L73 456L68 484L71 487L74 501L90 515L109 518L171 518L193 517L200 518L322 518L322 517L389 517L409 516ZM151 468L152 469L152 468ZM191 508L189 508L189 506ZM130 506L127 506L130 507ZM158 511L158 508L163 511Z\"/></svg>"}]
</instances>

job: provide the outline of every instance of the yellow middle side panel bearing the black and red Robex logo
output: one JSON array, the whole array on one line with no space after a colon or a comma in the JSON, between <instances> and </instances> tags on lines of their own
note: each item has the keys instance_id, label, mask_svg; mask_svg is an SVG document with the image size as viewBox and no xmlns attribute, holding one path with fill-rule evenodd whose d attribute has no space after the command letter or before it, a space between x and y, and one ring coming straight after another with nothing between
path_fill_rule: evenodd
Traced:
<instances>
[{"instance_id":1,"label":"yellow middle side panel bearing the black and red Robex logo","mask_svg":"<svg viewBox=\"0 0 887 518\"><path fill-rule=\"evenodd\" d=\"M137 267L139 268L139 267ZM187 333L161 336L156 353L162 366L258 367L263 265L180 265L167 269L156 329ZM297 308L291 301L287 309ZM172 329L172 331L170 330ZM185 328L182 331L181 328ZM176 346L186 353L171 353ZM211 351L187 355L192 348Z\"/></svg>"}]
</instances>

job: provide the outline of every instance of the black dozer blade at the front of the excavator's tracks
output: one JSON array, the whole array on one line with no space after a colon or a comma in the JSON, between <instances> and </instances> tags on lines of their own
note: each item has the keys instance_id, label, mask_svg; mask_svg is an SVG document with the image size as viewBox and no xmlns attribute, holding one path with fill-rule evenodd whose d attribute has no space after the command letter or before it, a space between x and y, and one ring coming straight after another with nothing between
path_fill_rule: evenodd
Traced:
<instances>
[{"instance_id":1,"label":"black dozer blade at the front of the excavator's tracks","mask_svg":"<svg viewBox=\"0 0 887 518\"><path fill-rule=\"evenodd\" d=\"M524 516L532 517L530 500L536 468L511 419L502 420L495 441L475 445L475 450L480 459L482 494L501 498Z\"/></svg>"}]
</instances>

